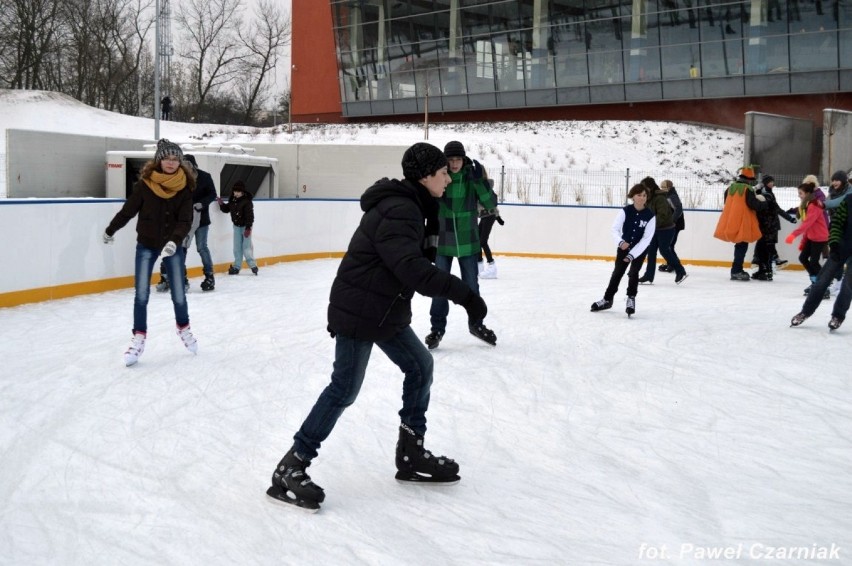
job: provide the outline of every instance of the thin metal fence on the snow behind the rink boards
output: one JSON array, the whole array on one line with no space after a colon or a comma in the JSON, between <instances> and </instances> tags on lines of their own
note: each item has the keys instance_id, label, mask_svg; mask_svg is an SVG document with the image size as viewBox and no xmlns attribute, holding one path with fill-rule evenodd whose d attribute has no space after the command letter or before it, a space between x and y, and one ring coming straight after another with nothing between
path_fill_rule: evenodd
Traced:
<instances>
[{"instance_id":1,"label":"thin metal fence on the snow behind the rink boards","mask_svg":"<svg viewBox=\"0 0 852 566\"><path fill-rule=\"evenodd\" d=\"M627 191L645 177L657 184L669 179L687 209L721 210L725 189L733 181L707 182L696 176L659 171L557 171L550 169L508 169L502 167L494 178L500 202L551 206L623 206ZM790 177L789 179L787 177ZM774 190L781 208L798 206L798 176L776 176Z\"/></svg>"}]
</instances>

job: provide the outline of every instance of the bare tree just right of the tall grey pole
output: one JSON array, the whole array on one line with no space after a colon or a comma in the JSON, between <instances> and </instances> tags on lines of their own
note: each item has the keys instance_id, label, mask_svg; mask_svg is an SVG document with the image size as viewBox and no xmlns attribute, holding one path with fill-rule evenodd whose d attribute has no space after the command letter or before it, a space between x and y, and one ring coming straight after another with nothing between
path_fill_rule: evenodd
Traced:
<instances>
[{"instance_id":1,"label":"bare tree just right of the tall grey pole","mask_svg":"<svg viewBox=\"0 0 852 566\"><path fill-rule=\"evenodd\" d=\"M195 84L196 118L203 117L207 97L239 74L245 57L237 30L242 24L239 0L187 0L179 4L177 22L189 41L181 55L190 60Z\"/></svg>"}]
</instances>

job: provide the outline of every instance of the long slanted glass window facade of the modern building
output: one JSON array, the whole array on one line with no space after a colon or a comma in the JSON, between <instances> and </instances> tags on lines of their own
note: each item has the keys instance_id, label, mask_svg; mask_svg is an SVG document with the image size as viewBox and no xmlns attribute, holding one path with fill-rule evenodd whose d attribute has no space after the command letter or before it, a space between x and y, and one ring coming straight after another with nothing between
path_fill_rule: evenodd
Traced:
<instances>
[{"instance_id":1,"label":"long slanted glass window facade of the modern building","mask_svg":"<svg viewBox=\"0 0 852 566\"><path fill-rule=\"evenodd\" d=\"M852 84L852 0L332 0L345 116Z\"/></svg>"}]
</instances>

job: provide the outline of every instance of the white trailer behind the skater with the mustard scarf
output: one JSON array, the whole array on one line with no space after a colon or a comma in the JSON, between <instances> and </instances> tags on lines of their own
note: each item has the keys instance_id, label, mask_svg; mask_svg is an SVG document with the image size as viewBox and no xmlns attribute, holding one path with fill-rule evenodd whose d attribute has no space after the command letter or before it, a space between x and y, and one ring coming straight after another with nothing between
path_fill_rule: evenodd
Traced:
<instances>
[{"instance_id":1,"label":"white trailer behind the skater with the mustard scarf","mask_svg":"<svg viewBox=\"0 0 852 566\"><path fill-rule=\"evenodd\" d=\"M198 168L210 173L220 196L242 181L256 198L278 198L278 160L254 155L253 148L239 145L180 144L184 154L195 156ZM156 144L140 151L106 152L106 197L127 198L145 162L153 159Z\"/></svg>"}]
</instances>

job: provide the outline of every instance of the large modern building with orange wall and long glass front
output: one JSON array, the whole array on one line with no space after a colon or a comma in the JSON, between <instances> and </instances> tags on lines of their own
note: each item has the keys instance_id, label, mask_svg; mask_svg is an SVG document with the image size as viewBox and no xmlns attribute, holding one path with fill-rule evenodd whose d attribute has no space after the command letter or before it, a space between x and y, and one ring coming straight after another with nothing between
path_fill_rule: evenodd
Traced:
<instances>
[{"instance_id":1,"label":"large modern building with orange wall and long glass front","mask_svg":"<svg viewBox=\"0 0 852 566\"><path fill-rule=\"evenodd\" d=\"M852 108L850 0L293 0L292 24L294 121Z\"/></svg>"}]
</instances>

